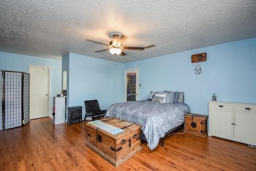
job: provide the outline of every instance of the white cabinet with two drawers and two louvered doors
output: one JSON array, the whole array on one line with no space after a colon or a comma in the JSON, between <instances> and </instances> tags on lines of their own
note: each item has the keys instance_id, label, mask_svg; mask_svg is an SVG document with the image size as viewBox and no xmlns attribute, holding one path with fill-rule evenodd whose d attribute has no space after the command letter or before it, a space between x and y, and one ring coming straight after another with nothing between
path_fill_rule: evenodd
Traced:
<instances>
[{"instance_id":1,"label":"white cabinet with two drawers and two louvered doors","mask_svg":"<svg viewBox=\"0 0 256 171\"><path fill-rule=\"evenodd\" d=\"M256 104L209 101L208 136L256 145Z\"/></svg>"}]
</instances>

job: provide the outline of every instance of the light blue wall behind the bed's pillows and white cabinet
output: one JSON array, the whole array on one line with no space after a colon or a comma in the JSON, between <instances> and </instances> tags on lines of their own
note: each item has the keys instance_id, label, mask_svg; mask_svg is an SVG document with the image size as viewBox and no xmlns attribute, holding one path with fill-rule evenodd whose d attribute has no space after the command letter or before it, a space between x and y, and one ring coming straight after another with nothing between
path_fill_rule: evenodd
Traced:
<instances>
[{"instance_id":1,"label":"light blue wall behind the bed's pillows and white cabinet","mask_svg":"<svg viewBox=\"0 0 256 171\"><path fill-rule=\"evenodd\" d=\"M203 73L196 75L191 56L204 52ZM140 100L150 91L184 91L191 112L203 115L213 93L218 101L256 103L256 38L124 64L124 70L133 68L140 71Z\"/></svg>"}]
</instances>

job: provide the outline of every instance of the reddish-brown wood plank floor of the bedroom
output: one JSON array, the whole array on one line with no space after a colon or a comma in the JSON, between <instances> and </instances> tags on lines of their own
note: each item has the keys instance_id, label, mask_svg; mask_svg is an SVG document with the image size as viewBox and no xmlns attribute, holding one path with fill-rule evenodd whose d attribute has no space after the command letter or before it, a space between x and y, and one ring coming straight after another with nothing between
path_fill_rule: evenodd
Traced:
<instances>
[{"instance_id":1,"label":"reddish-brown wood plank floor of the bedroom","mask_svg":"<svg viewBox=\"0 0 256 171\"><path fill-rule=\"evenodd\" d=\"M180 129L178 132L182 132ZM85 145L84 123L54 125L49 117L0 131L4 171L256 171L256 148L217 137L174 134L154 150L143 149L114 167Z\"/></svg>"}]
</instances>

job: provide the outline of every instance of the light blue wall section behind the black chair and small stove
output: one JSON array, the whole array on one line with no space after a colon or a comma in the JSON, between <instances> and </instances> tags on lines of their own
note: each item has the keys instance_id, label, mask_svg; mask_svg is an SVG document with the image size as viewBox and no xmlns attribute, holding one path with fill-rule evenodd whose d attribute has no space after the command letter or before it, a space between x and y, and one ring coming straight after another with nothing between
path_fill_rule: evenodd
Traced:
<instances>
[{"instance_id":1,"label":"light blue wall section behind the black chair and small stove","mask_svg":"<svg viewBox=\"0 0 256 171\"><path fill-rule=\"evenodd\" d=\"M62 60L69 61L68 106L80 105L84 111L84 100L98 99L100 108L107 109L123 101L123 64L116 63L115 67L112 61L72 53L62 56Z\"/></svg>"}]
</instances>

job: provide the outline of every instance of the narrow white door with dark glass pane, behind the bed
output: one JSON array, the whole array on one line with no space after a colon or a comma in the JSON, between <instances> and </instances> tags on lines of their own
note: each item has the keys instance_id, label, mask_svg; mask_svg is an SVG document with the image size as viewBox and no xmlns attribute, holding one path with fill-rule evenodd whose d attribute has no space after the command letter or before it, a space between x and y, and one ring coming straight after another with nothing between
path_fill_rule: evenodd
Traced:
<instances>
[{"instance_id":1,"label":"narrow white door with dark glass pane, behind the bed","mask_svg":"<svg viewBox=\"0 0 256 171\"><path fill-rule=\"evenodd\" d=\"M139 69L124 71L124 101L139 100Z\"/></svg>"}]
</instances>

